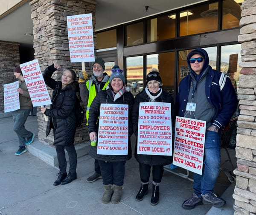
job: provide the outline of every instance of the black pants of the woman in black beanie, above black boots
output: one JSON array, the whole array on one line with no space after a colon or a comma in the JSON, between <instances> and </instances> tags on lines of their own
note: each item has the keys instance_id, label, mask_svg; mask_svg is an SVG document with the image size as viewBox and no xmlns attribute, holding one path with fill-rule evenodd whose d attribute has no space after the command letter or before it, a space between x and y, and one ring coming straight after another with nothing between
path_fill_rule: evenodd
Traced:
<instances>
[{"instance_id":1,"label":"black pants of the woman in black beanie, above black boots","mask_svg":"<svg viewBox=\"0 0 256 215\"><path fill-rule=\"evenodd\" d=\"M140 163L140 180L144 183L149 181L151 166ZM163 177L163 165L152 167L152 179L156 183L160 183Z\"/></svg>"}]
</instances>

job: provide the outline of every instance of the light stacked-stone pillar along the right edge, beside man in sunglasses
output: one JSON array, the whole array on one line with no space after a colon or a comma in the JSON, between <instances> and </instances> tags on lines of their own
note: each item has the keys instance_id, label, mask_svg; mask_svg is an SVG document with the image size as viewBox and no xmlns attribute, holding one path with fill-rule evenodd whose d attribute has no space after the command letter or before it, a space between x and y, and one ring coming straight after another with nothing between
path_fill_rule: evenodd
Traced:
<instances>
[{"instance_id":1,"label":"light stacked-stone pillar along the right edge, beside man in sunglasses","mask_svg":"<svg viewBox=\"0 0 256 215\"><path fill-rule=\"evenodd\" d=\"M241 6L242 67L238 99L240 115L236 136L237 168L235 215L256 214L256 1L244 0Z\"/></svg>"}]
</instances>

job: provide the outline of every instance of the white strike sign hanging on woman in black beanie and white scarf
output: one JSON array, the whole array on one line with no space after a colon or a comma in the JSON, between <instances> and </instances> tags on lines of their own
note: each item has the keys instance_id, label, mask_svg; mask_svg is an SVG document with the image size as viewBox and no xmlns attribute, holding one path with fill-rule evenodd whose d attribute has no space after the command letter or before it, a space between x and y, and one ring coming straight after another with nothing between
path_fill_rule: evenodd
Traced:
<instances>
[{"instance_id":1,"label":"white strike sign hanging on woman in black beanie and white scarf","mask_svg":"<svg viewBox=\"0 0 256 215\"><path fill-rule=\"evenodd\" d=\"M170 103L140 103L137 153L172 156Z\"/></svg>"}]
</instances>

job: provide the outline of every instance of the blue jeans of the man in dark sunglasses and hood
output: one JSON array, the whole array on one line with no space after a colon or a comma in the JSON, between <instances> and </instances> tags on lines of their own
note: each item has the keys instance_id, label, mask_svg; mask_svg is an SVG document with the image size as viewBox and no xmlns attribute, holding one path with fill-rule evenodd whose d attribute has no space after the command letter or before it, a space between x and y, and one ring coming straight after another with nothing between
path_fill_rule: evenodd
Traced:
<instances>
[{"instance_id":1,"label":"blue jeans of the man in dark sunglasses and hood","mask_svg":"<svg viewBox=\"0 0 256 215\"><path fill-rule=\"evenodd\" d=\"M221 162L221 134L206 131L204 144L204 168L202 175L194 173L194 192L201 194L212 193L219 174Z\"/></svg>"}]
</instances>

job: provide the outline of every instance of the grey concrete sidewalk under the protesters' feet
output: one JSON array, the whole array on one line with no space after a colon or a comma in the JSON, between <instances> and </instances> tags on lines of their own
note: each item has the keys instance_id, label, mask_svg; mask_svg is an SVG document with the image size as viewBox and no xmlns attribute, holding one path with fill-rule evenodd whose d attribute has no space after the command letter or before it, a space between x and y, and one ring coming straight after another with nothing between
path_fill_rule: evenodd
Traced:
<instances>
[{"instance_id":1,"label":"grey concrete sidewalk under the protesters' feet","mask_svg":"<svg viewBox=\"0 0 256 215\"><path fill-rule=\"evenodd\" d=\"M192 210L181 207L183 201L190 197L193 183L177 175L164 172L160 185L160 201L151 206L151 185L149 194L143 201L135 201L140 189L139 165L134 159L127 161L122 201L119 204L101 202L102 179L87 183L86 178L94 170L94 160L89 155L78 158L77 180L67 185L53 186L58 169L32 155L48 151L49 161L55 158L55 149L44 146L38 141L38 124L36 116L29 116L26 128L36 134L28 151L15 156L18 149L17 136L12 129L12 118L0 119L0 215L231 215L233 210L233 187L224 173L220 173L216 192L222 194L227 204L221 208L200 205ZM86 144L85 144L86 145ZM89 145L89 143L87 144ZM86 152L86 148L77 150ZM84 150L84 151L83 151ZM82 154L82 153L81 153ZM227 189L228 187L228 189Z\"/></svg>"}]
</instances>

